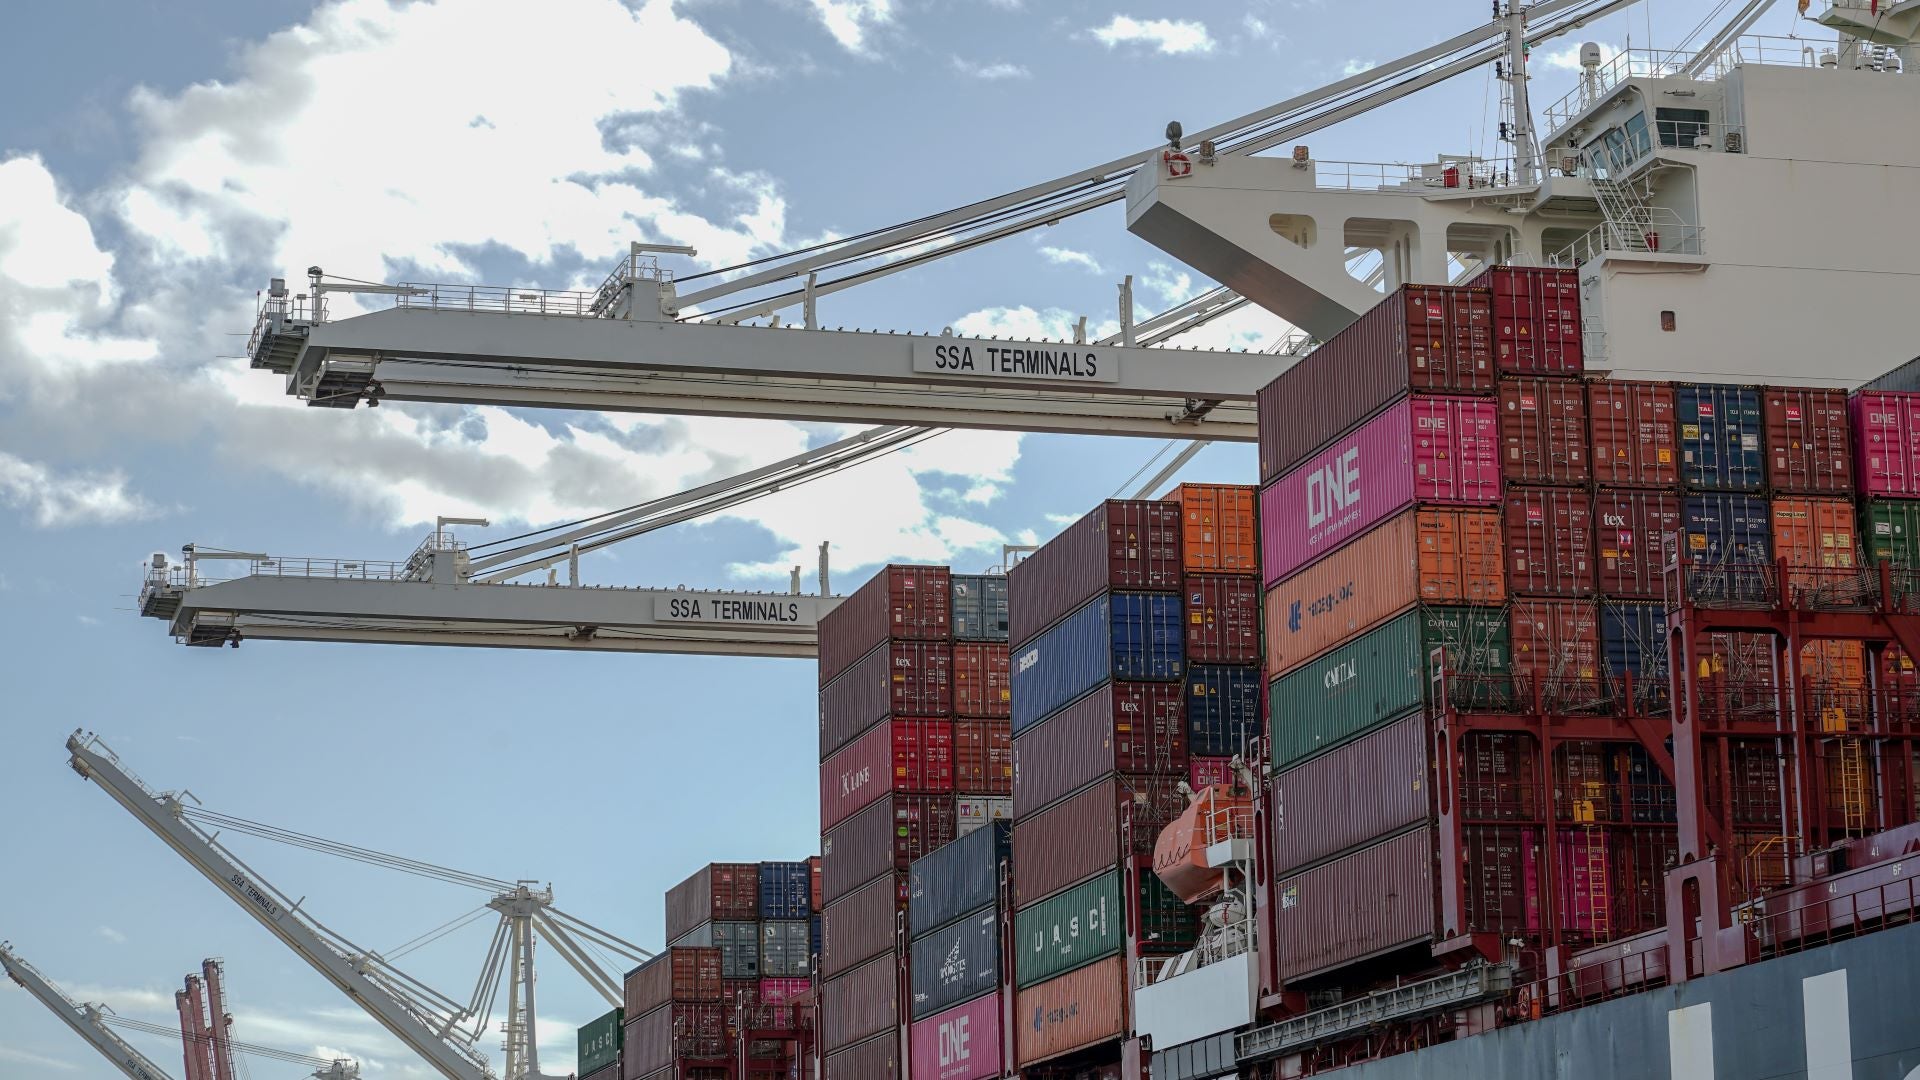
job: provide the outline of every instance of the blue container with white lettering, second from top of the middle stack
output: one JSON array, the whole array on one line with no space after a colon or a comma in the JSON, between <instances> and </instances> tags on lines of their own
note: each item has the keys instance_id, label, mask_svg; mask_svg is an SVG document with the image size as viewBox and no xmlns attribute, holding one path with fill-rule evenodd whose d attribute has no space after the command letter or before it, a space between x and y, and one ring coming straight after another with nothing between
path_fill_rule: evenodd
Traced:
<instances>
[{"instance_id":1,"label":"blue container with white lettering, second from top of the middle stack","mask_svg":"<svg viewBox=\"0 0 1920 1080\"><path fill-rule=\"evenodd\" d=\"M1108 678L1173 682L1185 675L1181 596L1110 592L1014 653L1014 732Z\"/></svg>"}]
</instances>

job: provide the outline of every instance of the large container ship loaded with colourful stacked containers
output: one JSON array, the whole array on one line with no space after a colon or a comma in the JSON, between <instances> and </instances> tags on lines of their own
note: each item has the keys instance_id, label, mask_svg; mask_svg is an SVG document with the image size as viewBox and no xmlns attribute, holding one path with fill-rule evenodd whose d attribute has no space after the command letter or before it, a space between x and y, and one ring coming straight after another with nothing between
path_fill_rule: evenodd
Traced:
<instances>
[{"instance_id":1,"label":"large container ship loaded with colourful stacked containers","mask_svg":"<svg viewBox=\"0 0 1920 1080\"><path fill-rule=\"evenodd\" d=\"M1135 234L1302 334L1217 398L954 415L1210 423L1258 438L1258 477L820 603L820 847L676 886L668 947L580 1030L582 1080L1920 1076L1920 8L1830 4L1832 46L1741 37L1764 10L1699 52L1582 46L1536 133L1528 13L1500 8L1503 165L1342 173L1175 125L1116 173ZM655 319L657 292L678 317L668 277L622 273L563 315ZM384 338L457 336L407 296L326 327L280 288L253 365L336 407L461 400L409 356L536 357L503 398L459 377L509 404L607 377L540 382L572 338ZM559 304L476 296L453 317ZM922 344L966 342L910 342L902 394ZM868 382L824 405L726 363L726 394L672 407L893 415ZM486 580L451 544L417 559ZM167 580L142 611L188 644L313 634ZM674 648L812 655L722 623Z\"/></svg>"}]
</instances>

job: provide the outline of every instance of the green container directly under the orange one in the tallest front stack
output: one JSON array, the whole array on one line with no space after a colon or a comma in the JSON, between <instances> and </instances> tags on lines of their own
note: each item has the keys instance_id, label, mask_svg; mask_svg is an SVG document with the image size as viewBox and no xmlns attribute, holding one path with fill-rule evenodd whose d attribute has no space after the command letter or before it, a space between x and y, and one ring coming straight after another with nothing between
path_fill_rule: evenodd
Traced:
<instances>
[{"instance_id":1,"label":"green container directly under the orange one in the tallest front stack","mask_svg":"<svg viewBox=\"0 0 1920 1080\"><path fill-rule=\"evenodd\" d=\"M1507 698L1513 636L1501 607L1415 607L1334 646L1267 688L1273 769L1332 749L1427 703L1427 655L1446 648L1450 667L1490 676L1457 686L1476 707Z\"/></svg>"}]
</instances>

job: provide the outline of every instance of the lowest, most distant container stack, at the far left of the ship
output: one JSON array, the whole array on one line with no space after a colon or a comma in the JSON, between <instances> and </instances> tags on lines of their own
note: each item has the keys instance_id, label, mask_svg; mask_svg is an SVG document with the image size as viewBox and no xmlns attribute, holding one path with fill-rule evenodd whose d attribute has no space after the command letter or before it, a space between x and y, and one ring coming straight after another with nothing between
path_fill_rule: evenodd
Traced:
<instances>
[{"instance_id":1,"label":"lowest, most distant container stack, at the far left of the ship","mask_svg":"<svg viewBox=\"0 0 1920 1080\"><path fill-rule=\"evenodd\" d=\"M607 1017L580 1030L580 1074L589 1047L595 1061L611 1053L622 1080L724 1080L741 1057L755 1074L803 1068L789 1040L755 1032L810 1026L812 907L806 861L710 863L670 888L670 944L626 972L616 1036Z\"/></svg>"}]
</instances>

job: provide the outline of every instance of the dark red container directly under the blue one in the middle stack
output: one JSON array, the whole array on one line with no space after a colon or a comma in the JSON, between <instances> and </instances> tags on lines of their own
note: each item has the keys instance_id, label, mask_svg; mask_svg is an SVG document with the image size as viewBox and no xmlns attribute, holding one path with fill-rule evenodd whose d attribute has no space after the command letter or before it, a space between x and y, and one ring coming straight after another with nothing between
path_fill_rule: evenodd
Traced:
<instances>
[{"instance_id":1,"label":"dark red container directly under the blue one in the middle stack","mask_svg":"<svg viewBox=\"0 0 1920 1080\"><path fill-rule=\"evenodd\" d=\"M1014 807L1031 815L1108 773L1185 776L1179 682L1108 682L1014 738Z\"/></svg>"}]
</instances>

